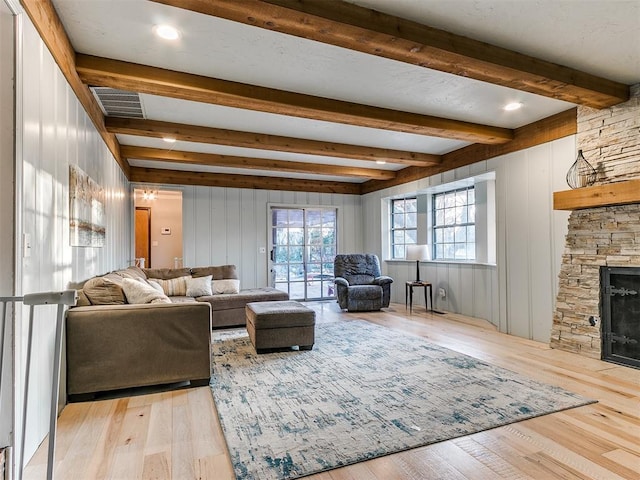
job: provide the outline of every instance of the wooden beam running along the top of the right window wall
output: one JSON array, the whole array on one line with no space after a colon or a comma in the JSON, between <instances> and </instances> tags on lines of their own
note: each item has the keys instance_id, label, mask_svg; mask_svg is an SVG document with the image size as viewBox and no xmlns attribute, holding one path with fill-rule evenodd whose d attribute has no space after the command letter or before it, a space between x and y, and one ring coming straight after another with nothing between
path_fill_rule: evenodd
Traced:
<instances>
[{"instance_id":1,"label":"wooden beam running along the top of the right window wall","mask_svg":"<svg viewBox=\"0 0 640 480\"><path fill-rule=\"evenodd\" d=\"M535 145L551 142L559 138L574 135L577 132L577 109L571 108L551 117L517 128L515 138L503 145L469 145L443 155L441 165L432 167L407 167L397 172L392 180L369 180L362 184L361 193L371 193L403 183L413 182L465 167L472 163L488 160L507 153L531 148Z\"/></svg>"}]
</instances>

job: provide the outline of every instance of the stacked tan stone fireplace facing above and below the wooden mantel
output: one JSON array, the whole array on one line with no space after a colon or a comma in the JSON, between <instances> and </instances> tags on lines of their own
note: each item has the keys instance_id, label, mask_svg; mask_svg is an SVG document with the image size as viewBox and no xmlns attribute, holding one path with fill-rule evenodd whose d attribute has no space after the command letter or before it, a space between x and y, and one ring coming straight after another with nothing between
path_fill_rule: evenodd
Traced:
<instances>
[{"instance_id":1,"label":"stacked tan stone fireplace facing above and below the wooden mantel","mask_svg":"<svg viewBox=\"0 0 640 480\"><path fill-rule=\"evenodd\" d=\"M631 87L631 99L624 104L603 110L579 107L577 120L577 149L596 169L596 185L640 179L640 84ZM601 267L640 267L640 191L632 203L616 203L612 195L610 206L580 207L569 217L553 348L603 356Z\"/></svg>"}]
</instances>

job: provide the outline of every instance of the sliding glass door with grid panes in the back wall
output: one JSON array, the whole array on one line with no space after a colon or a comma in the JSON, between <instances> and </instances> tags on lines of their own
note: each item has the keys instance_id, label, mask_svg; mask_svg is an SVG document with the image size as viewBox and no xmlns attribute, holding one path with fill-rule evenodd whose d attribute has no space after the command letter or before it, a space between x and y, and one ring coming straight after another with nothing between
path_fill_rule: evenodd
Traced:
<instances>
[{"instance_id":1,"label":"sliding glass door with grid panes in the back wall","mask_svg":"<svg viewBox=\"0 0 640 480\"><path fill-rule=\"evenodd\" d=\"M271 208L271 272L292 300L334 297L338 211L331 207Z\"/></svg>"}]
</instances>

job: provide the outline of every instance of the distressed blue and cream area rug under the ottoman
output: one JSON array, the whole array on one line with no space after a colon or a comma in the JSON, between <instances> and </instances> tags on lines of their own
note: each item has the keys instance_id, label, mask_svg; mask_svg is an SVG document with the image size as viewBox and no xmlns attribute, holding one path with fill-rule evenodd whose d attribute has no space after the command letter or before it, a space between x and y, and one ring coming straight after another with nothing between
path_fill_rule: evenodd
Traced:
<instances>
[{"instance_id":1,"label":"distressed blue and cream area rug under the ottoman","mask_svg":"<svg viewBox=\"0 0 640 480\"><path fill-rule=\"evenodd\" d=\"M364 321L312 351L214 333L211 388L238 480L292 479L592 403Z\"/></svg>"}]
</instances>

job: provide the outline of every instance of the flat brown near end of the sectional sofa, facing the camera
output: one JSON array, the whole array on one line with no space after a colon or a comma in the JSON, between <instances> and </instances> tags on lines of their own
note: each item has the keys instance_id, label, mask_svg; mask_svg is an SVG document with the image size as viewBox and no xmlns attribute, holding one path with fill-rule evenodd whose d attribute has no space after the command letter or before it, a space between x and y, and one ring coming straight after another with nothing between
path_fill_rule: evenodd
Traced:
<instances>
[{"instance_id":1,"label":"flat brown near end of the sectional sofa, facing the camera","mask_svg":"<svg viewBox=\"0 0 640 480\"><path fill-rule=\"evenodd\" d=\"M211 376L208 303L101 305L67 311L67 395L189 381Z\"/></svg>"}]
</instances>

